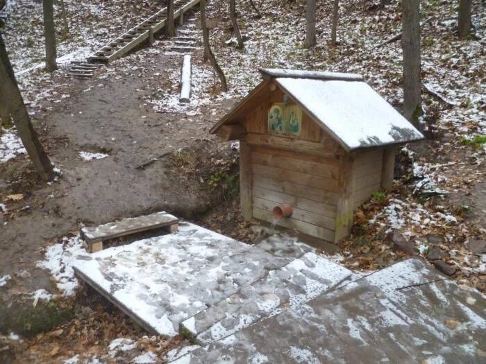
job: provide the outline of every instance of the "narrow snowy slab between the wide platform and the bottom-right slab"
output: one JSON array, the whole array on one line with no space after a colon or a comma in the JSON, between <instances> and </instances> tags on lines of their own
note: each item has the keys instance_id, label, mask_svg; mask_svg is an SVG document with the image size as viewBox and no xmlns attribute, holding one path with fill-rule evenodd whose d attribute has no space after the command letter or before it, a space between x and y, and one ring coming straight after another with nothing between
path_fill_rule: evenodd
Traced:
<instances>
[{"instance_id":1,"label":"narrow snowy slab between the wide platform and the bottom-right slab","mask_svg":"<svg viewBox=\"0 0 486 364\"><path fill-rule=\"evenodd\" d=\"M308 252L287 266L185 320L182 325L199 343L226 338L244 327L282 312L296 309L328 288L353 277L353 272Z\"/></svg>"}]
</instances>

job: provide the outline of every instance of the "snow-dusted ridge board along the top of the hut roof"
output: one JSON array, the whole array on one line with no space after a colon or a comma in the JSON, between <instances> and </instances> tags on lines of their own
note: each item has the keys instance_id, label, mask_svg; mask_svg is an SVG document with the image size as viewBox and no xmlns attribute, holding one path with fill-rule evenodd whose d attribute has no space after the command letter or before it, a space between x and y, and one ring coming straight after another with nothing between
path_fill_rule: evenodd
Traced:
<instances>
[{"instance_id":1,"label":"snow-dusted ridge board along the top of the hut roof","mask_svg":"<svg viewBox=\"0 0 486 364\"><path fill-rule=\"evenodd\" d=\"M260 68L263 78L307 78L314 80L364 81L358 73L306 71L303 69Z\"/></svg>"}]
</instances>

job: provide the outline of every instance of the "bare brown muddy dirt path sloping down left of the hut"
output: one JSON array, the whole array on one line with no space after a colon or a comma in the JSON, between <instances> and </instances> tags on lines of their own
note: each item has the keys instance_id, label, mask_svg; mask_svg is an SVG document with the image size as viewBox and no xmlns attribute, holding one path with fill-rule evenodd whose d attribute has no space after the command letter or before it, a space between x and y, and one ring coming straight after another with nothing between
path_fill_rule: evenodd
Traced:
<instances>
[{"instance_id":1,"label":"bare brown muddy dirt path sloping down left of the hut","mask_svg":"<svg viewBox=\"0 0 486 364\"><path fill-rule=\"evenodd\" d=\"M211 158L231 159L235 152L210 137L208 128L228 110L231 101L211 105L211 112L209 107L202 107L199 116L153 112L143 98L153 89L163 89L169 73L180 67L180 56L160 53L153 57L146 64L137 64L149 71L127 72L119 80L103 78L102 72L91 80L66 80L72 83L72 97L67 102L45 105L53 110L38 119L37 125L47 129L43 142L49 146L51 161L60 168L62 177L50 186L26 189L24 176L16 188L25 198L10 203L8 209L29 208L9 218L4 216L6 224L0 227L0 277L12 277L0 290L0 306L12 300L23 302L14 305L13 315L31 304L25 299L33 291L56 293L49 272L35 268L35 263L42 259L45 245L75 232L82 224L160 210L191 219L210 208L213 200L201 178L211 174ZM181 161L187 163L187 171L174 163L179 148L187 150L187 160ZM80 151L106 153L108 157L86 161L78 155ZM137 168L160 155L165 157ZM27 165L26 157L17 157L1 167L6 172L1 174L7 177ZM6 196L19 191L5 189L1 193Z\"/></svg>"}]
</instances>

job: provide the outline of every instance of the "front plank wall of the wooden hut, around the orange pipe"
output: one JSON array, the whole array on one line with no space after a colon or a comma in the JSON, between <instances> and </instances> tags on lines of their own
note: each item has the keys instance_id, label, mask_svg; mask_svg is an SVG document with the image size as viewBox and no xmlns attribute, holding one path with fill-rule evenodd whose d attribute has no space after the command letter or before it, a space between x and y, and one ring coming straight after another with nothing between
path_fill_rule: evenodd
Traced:
<instances>
[{"instance_id":1,"label":"front plank wall of the wooden hut, around the orange pipe","mask_svg":"<svg viewBox=\"0 0 486 364\"><path fill-rule=\"evenodd\" d=\"M339 164L336 159L251 146L253 217L273 221L276 205L294 212L278 225L334 241Z\"/></svg>"}]
</instances>

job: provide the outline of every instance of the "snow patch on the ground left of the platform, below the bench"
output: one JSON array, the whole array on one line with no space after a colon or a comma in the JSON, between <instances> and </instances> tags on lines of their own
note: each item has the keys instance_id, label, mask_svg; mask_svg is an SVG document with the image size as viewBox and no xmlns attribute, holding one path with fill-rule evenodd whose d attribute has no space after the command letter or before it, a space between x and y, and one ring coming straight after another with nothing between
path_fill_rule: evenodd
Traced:
<instances>
[{"instance_id":1,"label":"snow patch on the ground left of the platform, below the bench","mask_svg":"<svg viewBox=\"0 0 486 364\"><path fill-rule=\"evenodd\" d=\"M62 294L70 296L78 286L72 263L79 257L89 257L79 235L72 238L64 237L61 243L46 248L45 259L37 261L37 267L49 270Z\"/></svg>"}]
</instances>

